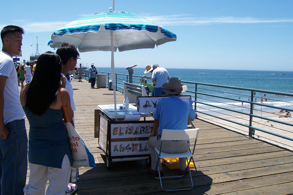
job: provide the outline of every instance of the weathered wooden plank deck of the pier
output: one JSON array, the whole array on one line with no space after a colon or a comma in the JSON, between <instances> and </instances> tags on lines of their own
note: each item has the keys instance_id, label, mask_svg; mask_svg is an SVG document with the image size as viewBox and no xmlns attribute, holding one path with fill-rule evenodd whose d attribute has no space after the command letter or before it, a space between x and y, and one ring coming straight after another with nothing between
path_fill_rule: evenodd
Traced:
<instances>
[{"instance_id":1,"label":"weathered wooden plank deck of the pier","mask_svg":"<svg viewBox=\"0 0 293 195\"><path fill-rule=\"evenodd\" d=\"M113 91L91 89L90 83L72 80L76 105L75 126L96 158L95 168L79 169L76 194L165 194L159 180L147 172L146 161L112 163L108 170L104 152L94 138L94 110L98 104L113 104ZM117 103L123 95L117 92ZM151 120L151 118L149 119ZM194 155L197 171L191 169L194 187L166 194L293 194L293 153L278 146L222 128L200 117L193 121L200 128ZM26 120L27 134L29 123ZM163 165L163 172L171 172ZM176 172L177 173L177 172ZM27 171L27 183L29 169ZM163 181L168 187L187 184L179 180Z\"/></svg>"}]
</instances>

